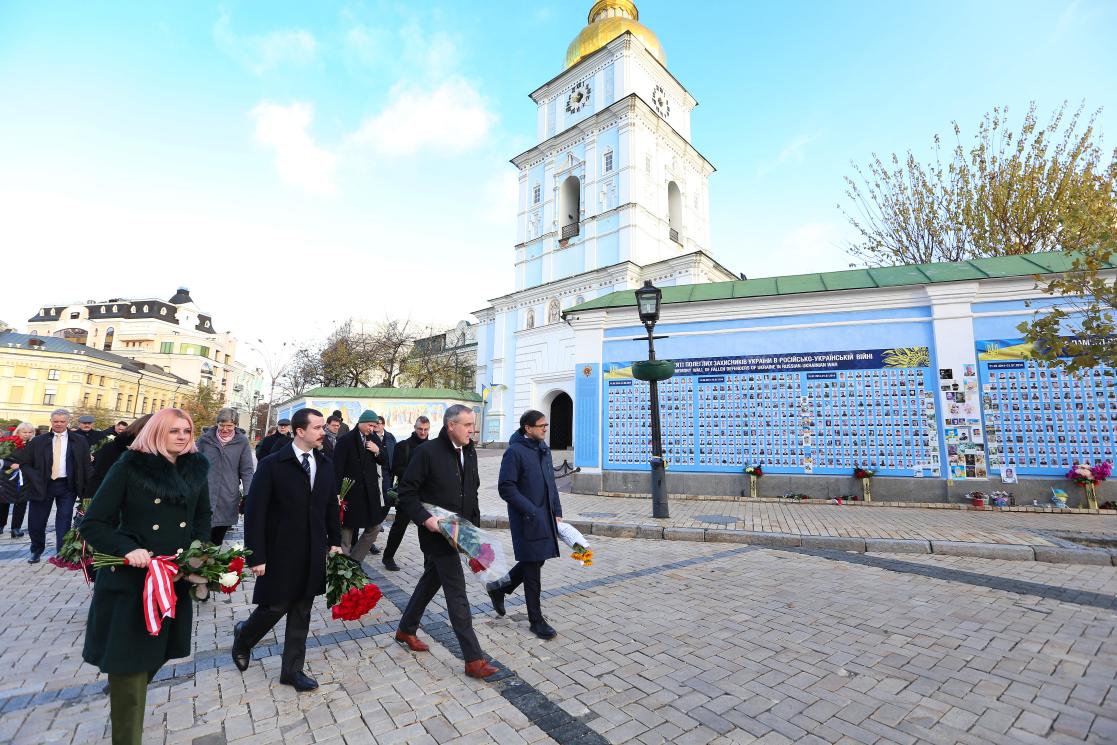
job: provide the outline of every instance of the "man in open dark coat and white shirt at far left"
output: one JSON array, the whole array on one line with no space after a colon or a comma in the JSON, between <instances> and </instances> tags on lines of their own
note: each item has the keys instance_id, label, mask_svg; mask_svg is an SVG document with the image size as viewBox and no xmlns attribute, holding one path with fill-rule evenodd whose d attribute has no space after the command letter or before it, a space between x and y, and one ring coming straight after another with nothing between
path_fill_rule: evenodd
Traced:
<instances>
[{"instance_id":1,"label":"man in open dark coat and white shirt at far left","mask_svg":"<svg viewBox=\"0 0 1117 745\"><path fill-rule=\"evenodd\" d=\"M29 564L38 564L47 547L47 520L50 508L55 514L55 552L74 520L74 503L85 496L93 475L89 446L84 437L69 431L70 414L56 409L50 414L50 431L34 438L26 448L11 455L11 462L23 471L25 484L31 490L27 532L31 536Z\"/></svg>"}]
</instances>

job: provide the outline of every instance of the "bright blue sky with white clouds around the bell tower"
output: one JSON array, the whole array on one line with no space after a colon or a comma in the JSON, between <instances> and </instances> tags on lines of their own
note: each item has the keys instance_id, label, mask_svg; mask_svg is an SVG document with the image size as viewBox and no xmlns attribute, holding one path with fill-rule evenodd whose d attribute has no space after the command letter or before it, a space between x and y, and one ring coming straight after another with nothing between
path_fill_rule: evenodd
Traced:
<instances>
[{"instance_id":1,"label":"bright blue sky with white clouds around the bell tower","mask_svg":"<svg viewBox=\"0 0 1117 745\"><path fill-rule=\"evenodd\" d=\"M184 284L242 337L452 325L512 289L508 159L591 4L0 0L0 318ZM1085 101L1117 145L1108 0L638 4L750 276L848 265L850 162L954 120Z\"/></svg>"}]
</instances>

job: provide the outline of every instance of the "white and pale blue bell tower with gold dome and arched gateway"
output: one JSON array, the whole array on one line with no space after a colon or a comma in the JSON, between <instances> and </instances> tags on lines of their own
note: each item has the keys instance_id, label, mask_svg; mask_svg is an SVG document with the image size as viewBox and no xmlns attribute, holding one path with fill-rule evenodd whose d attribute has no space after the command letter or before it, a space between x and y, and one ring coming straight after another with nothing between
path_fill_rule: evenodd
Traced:
<instances>
[{"instance_id":1,"label":"white and pale blue bell tower with gold dome and arched gateway","mask_svg":"<svg viewBox=\"0 0 1117 745\"><path fill-rule=\"evenodd\" d=\"M667 69L630 0L600 0L565 69L532 93L538 144L519 171L515 292L476 312L483 439L507 440L519 413L573 438L574 332L563 313L650 279L732 280L709 245L714 166L690 142L697 102Z\"/></svg>"}]
</instances>

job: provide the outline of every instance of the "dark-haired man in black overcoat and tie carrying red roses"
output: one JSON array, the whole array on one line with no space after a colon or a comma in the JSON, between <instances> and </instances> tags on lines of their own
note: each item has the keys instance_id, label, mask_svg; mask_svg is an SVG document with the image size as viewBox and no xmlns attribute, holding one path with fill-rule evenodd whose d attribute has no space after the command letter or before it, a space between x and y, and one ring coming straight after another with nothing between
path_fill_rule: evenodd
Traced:
<instances>
[{"instance_id":1,"label":"dark-haired man in black overcoat and tie carrying red roses","mask_svg":"<svg viewBox=\"0 0 1117 745\"><path fill-rule=\"evenodd\" d=\"M303 671L314 598L326 591L326 556L341 552L333 465L318 449L325 420L314 409L292 417L295 438L260 461L245 499L245 547L256 575L256 610L233 629L232 661L248 669L252 647L287 617L279 682L314 690Z\"/></svg>"}]
</instances>

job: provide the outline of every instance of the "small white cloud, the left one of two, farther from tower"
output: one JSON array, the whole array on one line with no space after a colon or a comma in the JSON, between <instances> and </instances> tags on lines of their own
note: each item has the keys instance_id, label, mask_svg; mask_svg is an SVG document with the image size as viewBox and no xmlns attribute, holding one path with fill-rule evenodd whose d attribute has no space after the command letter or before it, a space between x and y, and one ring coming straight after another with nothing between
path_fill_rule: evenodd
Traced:
<instances>
[{"instance_id":1,"label":"small white cloud, the left one of two, farther from tower","mask_svg":"<svg viewBox=\"0 0 1117 745\"><path fill-rule=\"evenodd\" d=\"M284 183L312 194L335 191L337 157L315 144L308 132L314 121L311 104L288 106L262 102L252 109L256 141L276 155L276 170Z\"/></svg>"}]
</instances>

